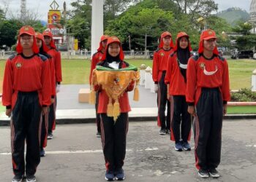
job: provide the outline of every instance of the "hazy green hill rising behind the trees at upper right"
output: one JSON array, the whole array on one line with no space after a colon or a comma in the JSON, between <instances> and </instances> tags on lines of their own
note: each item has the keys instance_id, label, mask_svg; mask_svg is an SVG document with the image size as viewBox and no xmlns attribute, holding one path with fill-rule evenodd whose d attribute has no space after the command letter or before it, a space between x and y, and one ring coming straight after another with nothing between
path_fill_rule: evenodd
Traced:
<instances>
[{"instance_id":1,"label":"hazy green hill rising behind the trees at upper right","mask_svg":"<svg viewBox=\"0 0 256 182\"><path fill-rule=\"evenodd\" d=\"M238 20L247 21L249 20L249 13L238 7L232 7L222 12L217 13L218 17L222 17L227 20L227 23L234 26Z\"/></svg>"}]
</instances>

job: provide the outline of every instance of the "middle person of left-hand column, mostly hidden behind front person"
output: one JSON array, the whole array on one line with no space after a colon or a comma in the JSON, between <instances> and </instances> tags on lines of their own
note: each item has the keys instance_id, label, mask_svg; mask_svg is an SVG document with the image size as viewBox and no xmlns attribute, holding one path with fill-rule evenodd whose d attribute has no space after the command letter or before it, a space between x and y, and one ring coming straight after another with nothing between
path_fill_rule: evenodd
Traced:
<instances>
[{"instance_id":1,"label":"middle person of left-hand column, mostly hidden behind front person","mask_svg":"<svg viewBox=\"0 0 256 182\"><path fill-rule=\"evenodd\" d=\"M50 82L51 82L51 103L54 103L56 97L56 83L55 83L55 68L54 63L50 55L46 52L48 48L45 45L44 36L42 33L36 32L36 39L37 39L37 47L39 48L39 54L44 55L48 58L50 63ZM41 143L40 143L40 156L45 157L45 150L44 148L47 146L47 135L48 135L48 114L42 116L42 130L41 130Z\"/></svg>"}]
</instances>

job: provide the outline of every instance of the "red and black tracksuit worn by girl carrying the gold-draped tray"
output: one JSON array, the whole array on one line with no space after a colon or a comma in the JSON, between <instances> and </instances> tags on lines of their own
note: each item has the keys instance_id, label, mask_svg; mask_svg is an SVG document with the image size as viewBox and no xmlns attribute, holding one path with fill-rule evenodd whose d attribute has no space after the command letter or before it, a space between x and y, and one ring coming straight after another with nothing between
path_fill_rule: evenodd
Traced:
<instances>
[{"instance_id":1,"label":"red and black tracksuit worn by girl carrying the gold-draped tray","mask_svg":"<svg viewBox=\"0 0 256 182\"><path fill-rule=\"evenodd\" d=\"M105 61L98 63L99 66L107 67ZM128 63L121 60L119 68L126 68ZM127 92L132 91L135 83L132 82L127 88ZM131 111L127 92L118 99L121 114L116 122L113 117L107 116L108 95L101 87L95 86L94 90L99 92L98 114L101 119L102 148L105 157L105 166L107 170L118 170L124 165L126 154L127 132L128 132L128 112Z\"/></svg>"}]
</instances>

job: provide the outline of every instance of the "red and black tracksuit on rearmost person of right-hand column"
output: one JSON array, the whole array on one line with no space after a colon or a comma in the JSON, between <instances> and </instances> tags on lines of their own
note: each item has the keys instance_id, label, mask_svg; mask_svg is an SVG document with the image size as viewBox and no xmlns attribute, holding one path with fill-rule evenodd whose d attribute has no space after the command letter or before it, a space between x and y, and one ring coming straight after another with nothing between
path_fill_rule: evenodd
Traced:
<instances>
[{"instance_id":1,"label":"red and black tracksuit on rearmost person of right-hand column","mask_svg":"<svg viewBox=\"0 0 256 182\"><path fill-rule=\"evenodd\" d=\"M165 74L167 70L168 58L172 52L172 48L170 48L170 50L164 50L161 48L154 52L153 57L152 78L154 83L158 84L159 87L157 92L157 125L163 130L170 130L170 100L167 100L167 85L165 84ZM165 117L166 104L167 118Z\"/></svg>"}]
</instances>

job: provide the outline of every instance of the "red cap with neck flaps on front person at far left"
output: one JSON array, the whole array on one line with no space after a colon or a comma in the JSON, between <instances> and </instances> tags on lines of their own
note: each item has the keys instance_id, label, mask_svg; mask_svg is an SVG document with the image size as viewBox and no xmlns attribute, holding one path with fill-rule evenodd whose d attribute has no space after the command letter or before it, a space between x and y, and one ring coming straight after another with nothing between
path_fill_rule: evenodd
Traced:
<instances>
[{"instance_id":1,"label":"red cap with neck flaps on front person at far left","mask_svg":"<svg viewBox=\"0 0 256 182\"><path fill-rule=\"evenodd\" d=\"M32 28L31 26L27 26L27 25L20 28L20 33L19 33L19 36L18 36L18 44L17 44L17 47L16 47L16 51L18 52L18 54L23 52L23 47L20 44L20 36L23 35L23 34L33 36L34 42L33 42L32 50L33 50L34 53L37 54L39 52L39 49L37 47L37 41L36 41L36 38L34 36L34 34L35 34L34 28Z\"/></svg>"}]
</instances>

